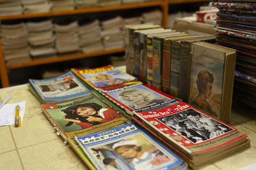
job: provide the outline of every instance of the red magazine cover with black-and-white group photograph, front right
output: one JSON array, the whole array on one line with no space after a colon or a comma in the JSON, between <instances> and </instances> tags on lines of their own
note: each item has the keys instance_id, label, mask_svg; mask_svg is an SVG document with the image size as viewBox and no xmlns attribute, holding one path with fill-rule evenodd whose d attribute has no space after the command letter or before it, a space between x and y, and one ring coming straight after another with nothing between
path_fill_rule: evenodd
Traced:
<instances>
[{"instance_id":1,"label":"red magazine cover with black-and-white group photograph, front right","mask_svg":"<svg viewBox=\"0 0 256 170\"><path fill-rule=\"evenodd\" d=\"M246 140L246 134L184 102L134 114L189 155L217 152L234 141Z\"/></svg>"}]
</instances>

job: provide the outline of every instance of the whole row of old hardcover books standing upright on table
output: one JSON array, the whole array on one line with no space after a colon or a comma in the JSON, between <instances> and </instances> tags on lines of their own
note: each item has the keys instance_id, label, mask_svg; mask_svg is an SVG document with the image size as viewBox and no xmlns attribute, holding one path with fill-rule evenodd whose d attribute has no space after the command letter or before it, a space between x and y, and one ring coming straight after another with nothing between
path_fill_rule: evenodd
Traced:
<instances>
[{"instance_id":1,"label":"whole row of old hardcover books standing upright on table","mask_svg":"<svg viewBox=\"0 0 256 170\"><path fill-rule=\"evenodd\" d=\"M126 71L149 87L230 121L236 50L160 25L128 25Z\"/></svg>"}]
</instances>

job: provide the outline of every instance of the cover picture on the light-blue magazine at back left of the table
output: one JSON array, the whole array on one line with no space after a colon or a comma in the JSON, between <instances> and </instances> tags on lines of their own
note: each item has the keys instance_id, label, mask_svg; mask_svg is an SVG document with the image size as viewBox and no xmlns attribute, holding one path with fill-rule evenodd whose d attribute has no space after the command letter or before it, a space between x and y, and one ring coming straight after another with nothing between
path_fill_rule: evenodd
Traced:
<instances>
[{"instance_id":1,"label":"cover picture on the light-blue magazine at back left of the table","mask_svg":"<svg viewBox=\"0 0 256 170\"><path fill-rule=\"evenodd\" d=\"M45 97L60 97L65 96L73 92L83 92L84 88L78 85L72 76L66 78L63 81L56 81L53 83L38 84L39 89L42 91L42 95Z\"/></svg>"}]
</instances>

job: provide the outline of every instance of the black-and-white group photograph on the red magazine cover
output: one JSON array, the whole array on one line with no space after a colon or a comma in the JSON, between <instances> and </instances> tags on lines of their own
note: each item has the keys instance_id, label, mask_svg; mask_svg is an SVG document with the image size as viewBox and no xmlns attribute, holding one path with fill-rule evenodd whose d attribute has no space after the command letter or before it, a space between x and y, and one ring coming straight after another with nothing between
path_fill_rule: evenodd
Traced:
<instances>
[{"instance_id":1,"label":"black-and-white group photograph on the red magazine cover","mask_svg":"<svg viewBox=\"0 0 256 170\"><path fill-rule=\"evenodd\" d=\"M201 143L234 130L193 108L157 120L193 143Z\"/></svg>"}]
</instances>

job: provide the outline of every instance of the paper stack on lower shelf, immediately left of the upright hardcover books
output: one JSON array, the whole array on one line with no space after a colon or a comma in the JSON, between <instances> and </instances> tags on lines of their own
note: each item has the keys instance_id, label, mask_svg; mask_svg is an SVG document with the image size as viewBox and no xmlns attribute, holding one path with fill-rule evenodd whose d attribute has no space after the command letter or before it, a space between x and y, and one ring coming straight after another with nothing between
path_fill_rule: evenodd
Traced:
<instances>
[{"instance_id":1,"label":"paper stack on lower shelf, immediately left of the upright hardcover books","mask_svg":"<svg viewBox=\"0 0 256 170\"><path fill-rule=\"evenodd\" d=\"M105 50L124 47L124 36L121 31L122 22L123 19L120 16L101 22L101 36Z\"/></svg>"}]
</instances>

